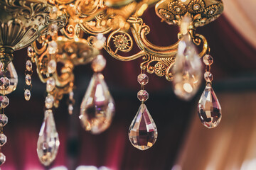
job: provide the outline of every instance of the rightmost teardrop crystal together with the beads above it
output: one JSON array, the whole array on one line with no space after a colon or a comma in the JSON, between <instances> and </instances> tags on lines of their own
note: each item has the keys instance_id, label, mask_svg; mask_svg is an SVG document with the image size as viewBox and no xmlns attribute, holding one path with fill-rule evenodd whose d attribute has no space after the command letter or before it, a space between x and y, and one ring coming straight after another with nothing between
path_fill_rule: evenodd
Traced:
<instances>
[{"instance_id":1,"label":"rightmost teardrop crystal together with the beads above it","mask_svg":"<svg viewBox=\"0 0 256 170\"><path fill-rule=\"evenodd\" d=\"M206 128L215 128L220 123L222 114L220 103L212 88L213 74L210 72L210 66L213 64L213 57L205 55L203 63L206 64L206 89L198 102L198 115Z\"/></svg>"}]
</instances>

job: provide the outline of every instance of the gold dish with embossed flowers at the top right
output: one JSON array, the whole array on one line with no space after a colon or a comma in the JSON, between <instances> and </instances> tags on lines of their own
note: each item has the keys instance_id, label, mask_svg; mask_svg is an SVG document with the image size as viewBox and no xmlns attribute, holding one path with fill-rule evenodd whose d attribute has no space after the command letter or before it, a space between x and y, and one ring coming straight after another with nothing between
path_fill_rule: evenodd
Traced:
<instances>
[{"instance_id":1,"label":"gold dish with embossed flowers at the top right","mask_svg":"<svg viewBox=\"0 0 256 170\"><path fill-rule=\"evenodd\" d=\"M193 26L204 26L223 13L223 2L221 0L162 0L156 4L156 14L169 24L181 24L181 18L189 15Z\"/></svg>"}]
</instances>

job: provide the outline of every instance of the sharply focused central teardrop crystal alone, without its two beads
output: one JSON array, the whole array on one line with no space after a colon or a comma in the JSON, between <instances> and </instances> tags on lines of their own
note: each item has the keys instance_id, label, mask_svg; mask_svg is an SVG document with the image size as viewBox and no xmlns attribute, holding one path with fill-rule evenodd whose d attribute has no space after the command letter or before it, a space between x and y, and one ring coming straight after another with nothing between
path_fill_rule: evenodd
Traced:
<instances>
[{"instance_id":1,"label":"sharply focused central teardrop crystal alone, without its two beads","mask_svg":"<svg viewBox=\"0 0 256 170\"><path fill-rule=\"evenodd\" d=\"M146 150L154 145L157 139L157 128L145 104L139 107L129 127L129 140L137 149Z\"/></svg>"}]
</instances>

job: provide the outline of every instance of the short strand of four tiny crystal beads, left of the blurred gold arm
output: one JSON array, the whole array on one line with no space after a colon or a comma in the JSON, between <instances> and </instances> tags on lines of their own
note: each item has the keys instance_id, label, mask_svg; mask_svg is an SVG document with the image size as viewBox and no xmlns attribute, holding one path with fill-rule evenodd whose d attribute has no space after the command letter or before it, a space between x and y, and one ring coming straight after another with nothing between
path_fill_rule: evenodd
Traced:
<instances>
[{"instance_id":1,"label":"short strand of four tiny crystal beads, left of the blurred gold arm","mask_svg":"<svg viewBox=\"0 0 256 170\"><path fill-rule=\"evenodd\" d=\"M25 81L26 81L26 86L24 88L24 98L26 99L26 101L29 101L31 98L31 89L32 89L32 74L33 74L33 70L32 70L32 58L34 57L35 52L33 50L33 47L28 46L28 57L26 60L26 70L25 70Z\"/></svg>"}]
</instances>

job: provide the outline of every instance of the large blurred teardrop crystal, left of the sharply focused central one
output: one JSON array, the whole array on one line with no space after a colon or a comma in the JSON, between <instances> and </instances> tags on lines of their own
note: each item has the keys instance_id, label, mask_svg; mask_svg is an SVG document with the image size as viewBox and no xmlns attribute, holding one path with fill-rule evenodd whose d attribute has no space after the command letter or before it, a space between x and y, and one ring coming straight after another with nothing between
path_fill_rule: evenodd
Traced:
<instances>
[{"instance_id":1,"label":"large blurred teardrop crystal, left of the sharply focused central one","mask_svg":"<svg viewBox=\"0 0 256 170\"><path fill-rule=\"evenodd\" d=\"M109 128L113 115L114 100L103 75L95 73L81 103L82 126L92 134L99 134Z\"/></svg>"}]
</instances>

